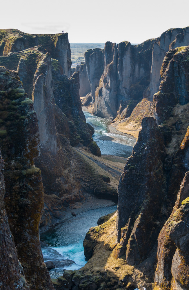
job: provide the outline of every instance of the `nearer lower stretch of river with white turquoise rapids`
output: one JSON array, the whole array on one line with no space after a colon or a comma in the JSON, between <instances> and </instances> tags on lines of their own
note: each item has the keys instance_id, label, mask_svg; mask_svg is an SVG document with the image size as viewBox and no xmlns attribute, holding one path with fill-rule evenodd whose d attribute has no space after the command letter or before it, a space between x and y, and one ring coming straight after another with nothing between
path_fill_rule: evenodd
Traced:
<instances>
[{"instance_id":1,"label":"nearer lower stretch of river with white turquoise rapids","mask_svg":"<svg viewBox=\"0 0 189 290\"><path fill-rule=\"evenodd\" d=\"M78 214L54 226L40 235L41 240L50 247L42 248L44 261L72 260L71 266L63 266L50 270L51 278L62 275L63 269L80 269L86 264L83 240L91 226L97 226L97 220L102 215L107 215L117 210L117 205L93 209Z\"/></svg>"}]
</instances>

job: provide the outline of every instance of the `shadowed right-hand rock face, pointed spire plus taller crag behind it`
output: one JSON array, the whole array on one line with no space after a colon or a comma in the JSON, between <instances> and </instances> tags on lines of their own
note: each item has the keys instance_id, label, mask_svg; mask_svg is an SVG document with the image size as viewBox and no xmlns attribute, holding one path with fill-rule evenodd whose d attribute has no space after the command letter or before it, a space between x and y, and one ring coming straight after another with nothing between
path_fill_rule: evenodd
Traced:
<instances>
[{"instance_id":1,"label":"shadowed right-hand rock face, pointed spire plus taller crag behind it","mask_svg":"<svg viewBox=\"0 0 189 290\"><path fill-rule=\"evenodd\" d=\"M189 169L188 56L188 46L166 54L159 92L153 97L155 119L143 119L119 181L117 256L125 255L130 265L143 262L156 246Z\"/></svg>"}]
</instances>

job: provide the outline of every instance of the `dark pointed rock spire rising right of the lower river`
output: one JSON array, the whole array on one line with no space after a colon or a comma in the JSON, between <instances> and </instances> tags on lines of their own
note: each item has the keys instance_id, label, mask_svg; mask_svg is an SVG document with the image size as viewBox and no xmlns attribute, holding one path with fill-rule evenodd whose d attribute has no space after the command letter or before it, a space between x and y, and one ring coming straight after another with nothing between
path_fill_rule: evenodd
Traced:
<instances>
[{"instance_id":1,"label":"dark pointed rock spire rising right of the lower river","mask_svg":"<svg viewBox=\"0 0 189 290\"><path fill-rule=\"evenodd\" d=\"M163 141L163 134L153 117L144 118L132 156L120 177L117 214L120 246L117 253L119 257L125 254L130 265L140 264L147 258L159 234L159 223L156 222L160 220L166 183Z\"/></svg>"}]
</instances>

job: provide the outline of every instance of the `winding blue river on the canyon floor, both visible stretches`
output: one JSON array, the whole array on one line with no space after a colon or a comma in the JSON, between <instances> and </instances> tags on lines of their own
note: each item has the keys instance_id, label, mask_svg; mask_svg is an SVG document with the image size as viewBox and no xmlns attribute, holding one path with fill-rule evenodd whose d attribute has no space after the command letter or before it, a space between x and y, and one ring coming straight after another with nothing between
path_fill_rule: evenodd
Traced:
<instances>
[{"instance_id":1,"label":"winding blue river on the canyon floor, both visible stretches","mask_svg":"<svg viewBox=\"0 0 189 290\"><path fill-rule=\"evenodd\" d=\"M111 130L110 121L83 112L88 122L95 129L92 136L97 142L101 154L129 157L132 153L135 139L128 135L120 135L117 130ZM56 268L51 269L51 278L62 275L64 269L80 269L86 264L83 240L91 226L97 226L97 220L102 215L112 213L117 209L117 205L93 209L78 214L68 220L64 220L45 233L40 235L40 239L48 243L48 247L43 247L44 261L53 261Z\"/></svg>"}]
</instances>

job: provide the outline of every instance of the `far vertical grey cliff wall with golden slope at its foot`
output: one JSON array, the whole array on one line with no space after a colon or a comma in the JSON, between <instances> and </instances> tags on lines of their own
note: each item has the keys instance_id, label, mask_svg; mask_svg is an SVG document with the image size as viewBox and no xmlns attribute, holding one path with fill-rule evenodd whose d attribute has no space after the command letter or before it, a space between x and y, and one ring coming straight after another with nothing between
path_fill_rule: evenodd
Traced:
<instances>
[{"instance_id":1,"label":"far vertical grey cliff wall with golden slope at its foot","mask_svg":"<svg viewBox=\"0 0 189 290\"><path fill-rule=\"evenodd\" d=\"M88 106L95 101L94 115L112 119L118 130L120 127L123 131L124 125L128 131L135 131L134 127L141 126L143 117L152 116L150 106L153 95L159 90L160 70L166 52L177 46L189 45L188 31L188 27L169 29L160 37L148 39L137 46L128 41L119 43L117 47L107 42L104 50L85 52L92 93L83 100L83 105ZM95 79L97 74L93 73L93 69L95 64L103 64L102 54L104 72ZM143 106L144 103L148 105ZM138 110L140 106L141 110Z\"/></svg>"}]
</instances>

